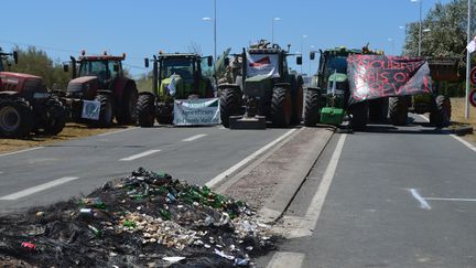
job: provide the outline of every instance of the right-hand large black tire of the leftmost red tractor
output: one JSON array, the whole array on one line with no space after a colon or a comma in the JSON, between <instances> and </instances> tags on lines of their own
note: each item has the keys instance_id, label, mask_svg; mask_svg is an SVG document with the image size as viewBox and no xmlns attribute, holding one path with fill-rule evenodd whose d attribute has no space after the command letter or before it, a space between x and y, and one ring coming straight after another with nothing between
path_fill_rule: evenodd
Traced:
<instances>
[{"instance_id":1,"label":"right-hand large black tire of the leftmost red tractor","mask_svg":"<svg viewBox=\"0 0 476 268\"><path fill-rule=\"evenodd\" d=\"M67 110L58 100L52 99L46 105L46 120L43 130L45 135L58 135L66 125Z\"/></svg>"}]
</instances>

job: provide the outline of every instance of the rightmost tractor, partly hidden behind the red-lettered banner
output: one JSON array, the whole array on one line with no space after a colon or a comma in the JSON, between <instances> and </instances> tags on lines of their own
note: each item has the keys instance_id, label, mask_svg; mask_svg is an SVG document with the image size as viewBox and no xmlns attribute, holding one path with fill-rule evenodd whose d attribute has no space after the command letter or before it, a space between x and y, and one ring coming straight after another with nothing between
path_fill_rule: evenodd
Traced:
<instances>
[{"instance_id":1,"label":"rightmost tractor, partly hidden behind the red-lettered banner","mask_svg":"<svg viewBox=\"0 0 476 268\"><path fill-rule=\"evenodd\" d=\"M441 94L442 82L458 82L457 58L426 58L430 75L433 79L432 94L419 94L413 96L390 97L389 118L396 126L404 126L408 122L408 112L430 114L430 124L444 127L451 122L452 106L447 96Z\"/></svg>"}]
</instances>

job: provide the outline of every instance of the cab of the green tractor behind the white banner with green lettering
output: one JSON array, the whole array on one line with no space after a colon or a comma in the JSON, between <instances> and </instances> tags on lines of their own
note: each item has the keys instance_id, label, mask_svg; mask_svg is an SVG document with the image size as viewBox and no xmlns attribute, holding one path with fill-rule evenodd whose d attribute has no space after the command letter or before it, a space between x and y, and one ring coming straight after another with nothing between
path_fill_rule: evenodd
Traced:
<instances>
[{"instance_id":1,"label":"cab of the green tractor behind the white banner with green lettering","mask_svg":"<svg viewBox=\"0 0 476 268\"><path fill-rule=\"evenodd\" d=\"M206 60L206 61L205 61ZM213 57L188 53L160 53L153 60L153 93L160 98L213 97ZM149 58L145 58L145 67Z\"/></svg>"}]
</instances>

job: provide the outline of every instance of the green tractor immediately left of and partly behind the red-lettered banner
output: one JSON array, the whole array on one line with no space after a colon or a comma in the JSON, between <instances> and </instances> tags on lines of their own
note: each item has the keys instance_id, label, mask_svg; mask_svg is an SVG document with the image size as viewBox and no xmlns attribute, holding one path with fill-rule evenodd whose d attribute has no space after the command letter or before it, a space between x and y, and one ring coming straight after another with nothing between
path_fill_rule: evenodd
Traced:
<instances>
[{"instance_id":1,"label":"green tractor immediately left of and partly behind the red-lettered banner","mask_svg":"<svg viewBox=\"0 0 476 268\"><path fill-rule=\"evenodd\" d=\"M316 124L339 126L346 114L350 115L350 127L361 130L370 120L383 120L387 117L388 99L372 99L348 106L350 97L347 76L347 56L350 54L379 54L364 46L350 50L344 46L320 51L317 75L307 87L304 108L304 125ZM310 58L315 58L311 52Z\"/></svg>"}]
</instances>

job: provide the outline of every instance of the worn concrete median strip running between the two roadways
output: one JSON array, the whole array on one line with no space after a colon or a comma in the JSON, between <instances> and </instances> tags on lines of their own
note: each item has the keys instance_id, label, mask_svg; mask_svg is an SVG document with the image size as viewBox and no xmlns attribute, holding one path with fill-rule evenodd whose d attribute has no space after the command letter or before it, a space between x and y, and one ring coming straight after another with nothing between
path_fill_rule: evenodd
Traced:
<instances>
[{"instance_id":1,"label":"worn concrete median strip running between the two roadways","mask_svg":"<svg viewBox=\"0 0 476 268\"><path fill-rule=\"evenodd\" d=\"M266 159L230 178L218 189L260 208L264 222L274 222L289 206L334 131L304 128Z\"/></svg>"}]
</instances>

